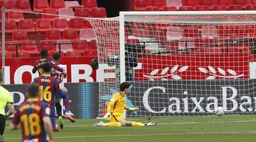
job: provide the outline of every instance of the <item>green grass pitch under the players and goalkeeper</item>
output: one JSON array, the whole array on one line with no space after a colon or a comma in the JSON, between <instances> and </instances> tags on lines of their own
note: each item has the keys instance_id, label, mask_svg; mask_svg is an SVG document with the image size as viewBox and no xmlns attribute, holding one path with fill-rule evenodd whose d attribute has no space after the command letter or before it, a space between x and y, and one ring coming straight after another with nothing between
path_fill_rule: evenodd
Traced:
<instances>
[{"instance_id":1,"label":"green grass pitch under the players and goalkeeper","mask_svg":"<svg viewBox=\"0 0 256 142\"><path fill-rule=\"evenodd\" d=\"M147 118L131 118L147 122ZM152 117L159 124L150 127L94 127L98 119L78 119L54 132L55 142L252 142L256 141L255 115L203 116L203 117ZM10 121L6 125L9 126ZM6 142L21 141L21 131L4 132Z\"/></svg>"}]
</instances>

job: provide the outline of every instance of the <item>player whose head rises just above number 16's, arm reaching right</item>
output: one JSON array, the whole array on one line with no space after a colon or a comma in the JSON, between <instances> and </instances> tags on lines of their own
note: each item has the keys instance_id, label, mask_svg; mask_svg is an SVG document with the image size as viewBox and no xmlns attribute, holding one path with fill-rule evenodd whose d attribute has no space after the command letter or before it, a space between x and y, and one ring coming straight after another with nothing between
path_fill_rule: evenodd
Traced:
<instances>
[{"instance_id":1,"label":"player whose head rises just above number 16's, arm reaching right","mask_svg":"<svg viewBox=\"0 0 256 142\"><path fill-rule=\"evenodd\" d=\"M59 66L56 66L55 64L53 64L50 59L47 59L48 57L48 51L46 49L42 49L40 52L41 55L41 59L37 60L35 63L35 66L33 67L32 73L36 73L36 71L38 71L39 76L41 76L43 74L42 71L42 64L44 63L49 63L52 65L53 69L56 69L57 71L63 72L63 69L61 69Z\"/></svg>"}]
</instances>

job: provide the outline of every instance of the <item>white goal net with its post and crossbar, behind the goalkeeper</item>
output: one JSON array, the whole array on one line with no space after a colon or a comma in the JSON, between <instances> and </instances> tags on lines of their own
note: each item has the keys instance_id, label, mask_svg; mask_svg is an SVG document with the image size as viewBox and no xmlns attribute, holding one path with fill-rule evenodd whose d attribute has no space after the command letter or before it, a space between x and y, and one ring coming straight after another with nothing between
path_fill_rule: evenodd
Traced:
<instances>
[{"instance_id":1,"label":"white goal net with its post and crossbar, behind the goalkeeper","mask_svg":"<svg viewBox=\"0 0 256 142\"><path fill-rule=\"evenodd\" d=\"M255 114L256 17L230 13L132 12L90 20L100 64L116 75L100 83L99 116L122 81L133 84L126 105L140 109L127 117L209 115L217 107Z\"/></svg>"}]
</instances>

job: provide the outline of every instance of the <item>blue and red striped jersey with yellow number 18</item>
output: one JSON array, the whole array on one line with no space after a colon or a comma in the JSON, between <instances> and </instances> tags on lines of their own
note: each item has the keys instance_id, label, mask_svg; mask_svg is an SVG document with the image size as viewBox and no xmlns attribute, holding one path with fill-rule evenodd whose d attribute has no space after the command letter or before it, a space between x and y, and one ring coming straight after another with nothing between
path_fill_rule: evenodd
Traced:
<instances>
[{"instance_id":1,"label":"blue and red striped jersey with yellow number 18","mask_svg":"<svg viewBox=\"0 0 256 142\"><path fill-rule=\"evenodd\" d=\"M46 129L43 117L48 117L50 108L46 102L38 99L21 103L14 114L13 124L21 123L22 141L46 142Z\"/></svg>"}]
</instances>

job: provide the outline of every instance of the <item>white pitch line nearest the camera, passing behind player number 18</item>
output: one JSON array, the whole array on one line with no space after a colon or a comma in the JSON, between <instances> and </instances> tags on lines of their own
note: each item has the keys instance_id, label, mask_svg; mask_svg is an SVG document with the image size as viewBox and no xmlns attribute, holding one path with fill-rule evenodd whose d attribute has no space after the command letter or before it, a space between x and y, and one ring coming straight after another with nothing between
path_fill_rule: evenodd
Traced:
<instances>
[{"instance_id":1,"label":"white pitch line nearest the camera, passing behind player number 18","mask_svg":"<svg viewBox=\"0 0 256 142\"><path fill-rule=\"evenodd\" d=\"M256 131L220 131L220 132L194 132L194 133L166 133L166 134L127 134L127 135L100 135L100 136L56 136L53 138L99 138L99 137L124 137L124 136L169 136L189 134L256 134ZM18 140L20 138L4 138L6 140Z\"/></svg>"}]
</instances>

